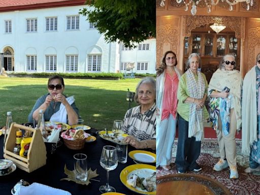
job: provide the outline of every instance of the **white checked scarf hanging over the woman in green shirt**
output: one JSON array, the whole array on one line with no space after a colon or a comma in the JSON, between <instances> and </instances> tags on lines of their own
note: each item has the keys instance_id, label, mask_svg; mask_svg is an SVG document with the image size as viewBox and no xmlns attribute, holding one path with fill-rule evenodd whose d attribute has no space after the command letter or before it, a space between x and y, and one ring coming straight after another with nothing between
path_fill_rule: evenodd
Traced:
<instances>
[{"instance_id":1,"label":"white checked scarf hanging over the woman in green shirt","mask_svg":"<svg viewBox=\"0 0 260 195\"><path fill-rule=\"evenodd\" d=\"M198 81L190 69L185 73L187 76L187 86L191 98L203 99L205 94L205 81L198 71ZM196 141L201 141L203 134L203 108L197 109L197 105L192 103L189 107L189 127L188 137L195 137Z\"/></svg>"}]
</instances>

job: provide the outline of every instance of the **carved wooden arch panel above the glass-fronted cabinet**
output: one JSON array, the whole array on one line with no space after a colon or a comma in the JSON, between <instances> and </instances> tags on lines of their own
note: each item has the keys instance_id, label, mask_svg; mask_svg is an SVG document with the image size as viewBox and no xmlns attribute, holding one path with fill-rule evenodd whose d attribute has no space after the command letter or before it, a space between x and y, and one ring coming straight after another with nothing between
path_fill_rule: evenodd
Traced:
<instances>
[{"instance_id":1,"label":"carved wooden arch panel above the glass-fronted cabinet","mask_svg":"<svg viewBox=\"0 0 260 195\"><path fill-rule=\"evenodd\" d=\"M183 30L183 36L189 37L191 30L203 26L205 24L214 23L216 16L183 16L185 19L183 22L183 26L185 26L185 30ZM222 19L222 23L226 27L230 27L235 31L237 38L244 38L242 34L242 18L241 17L218 17Z\"/></svg>"}]
</instances>

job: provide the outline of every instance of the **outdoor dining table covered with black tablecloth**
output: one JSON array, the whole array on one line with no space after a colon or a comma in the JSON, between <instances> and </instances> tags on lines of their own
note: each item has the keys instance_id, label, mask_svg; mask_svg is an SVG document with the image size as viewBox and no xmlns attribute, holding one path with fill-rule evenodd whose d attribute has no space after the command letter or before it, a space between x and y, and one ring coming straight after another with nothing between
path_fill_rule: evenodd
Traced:
<instances>
[{"instance_id":1,"label":"outdoor dining table covered with black tablecloth","mask_svg":"<svg viewBox=\"0 0 260 195\"><path fill-rule=\"evenodd\" d=\"M67 148L64 143L61 143L57 147L53 154L47 155L46 165L27 173L19 168L17 168L13 173L5 176L0 176L0 194L11 194L12 188L21 179L31 183L37 182L44 185L48 185L54 188L63 189L69 191L71 194L101 194L99 187L105 185L107 182L107 171L103 169L100 165L100 156L105 145L115 146L114 143L102 139L98 135L98 130L91 128L86 131L96 137L94 142L85 143L85 146L81 150L72 150ZM3 140L4 136L0 136L0 159L3 159ZM62 139L61 139L62 140ZM128 152L136 150L131 145L128 145ZM87 167L91 168L92 171L96 170L99 176L90 180L91 183L88 185L77 184L73 181L61 180L62 178L67 178L64 173L64 166L67 169L74 169L74 158L73 155L76 153L84 153L87 155ZM115 187L116 192L123 194L139 194L135 191L129 190L120 181L120 172L129 165L134 165L135 162L129 156L127 157L127 162L125 164L118 163L115 170L109 172L109 185ZM153 165L153 164L152 164ZM96 181L99 180L99 181Z\"/></svg>"}]
</instances>

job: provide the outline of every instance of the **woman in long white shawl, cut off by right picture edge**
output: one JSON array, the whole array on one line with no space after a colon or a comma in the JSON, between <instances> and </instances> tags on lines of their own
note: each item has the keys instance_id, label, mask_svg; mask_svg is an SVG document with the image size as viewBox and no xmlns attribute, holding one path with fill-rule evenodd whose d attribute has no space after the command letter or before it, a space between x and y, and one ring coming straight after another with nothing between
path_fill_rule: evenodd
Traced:
<instances>
[{"instance_id":1,"label":"woman in long white shawl, cut off by right picture edge","mask_svg":"<svg viewBox=\"0 0 260 195\"><path fill-rule=\"evenodd\" d=\"M246 74L242 98L242 153L249 154L246 173L260 171L260 53L256 65Z\"/></svg>"}]
</instances>

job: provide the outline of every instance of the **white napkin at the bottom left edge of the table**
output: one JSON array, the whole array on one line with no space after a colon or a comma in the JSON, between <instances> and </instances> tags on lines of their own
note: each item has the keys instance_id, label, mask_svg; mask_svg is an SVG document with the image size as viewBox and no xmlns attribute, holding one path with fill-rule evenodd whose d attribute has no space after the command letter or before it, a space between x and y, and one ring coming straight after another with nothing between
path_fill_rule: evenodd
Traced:
<instances>
[{"instance_id":1,"label":"white napkin at the bottom left edge of the table","mask_svg":"<svg viewBox=\"0 0 260 195\"><path fill-rule=\"evenodd\" d=\"M29 186L20 186L15 195L71 195L69 191L43 185L41 183L32 183Z\"/></svg>"}]
</instances>

